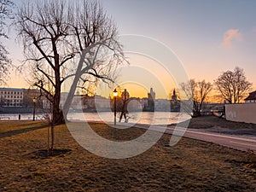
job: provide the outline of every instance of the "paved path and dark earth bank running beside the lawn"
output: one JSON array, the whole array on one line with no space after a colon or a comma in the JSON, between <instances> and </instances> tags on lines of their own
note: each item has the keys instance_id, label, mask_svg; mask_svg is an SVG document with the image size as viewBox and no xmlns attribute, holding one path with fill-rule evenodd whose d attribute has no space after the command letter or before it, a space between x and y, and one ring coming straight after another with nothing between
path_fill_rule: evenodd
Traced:
<instances>
[{"instance_id":1,"label":"paved path and dark earth bank running beside the lawn","mask_svg":"<svg viewBox=\"0 0 256 192\"><path fill-rule=\"evenodd\" d=\"M132 124L118 123L122 126ZM138 128L148 129L149 125L137 124ZM190 119L186 129L180 125L151 125L151 130L173 134L177 137L187 137L208 143L216 143L225 147L243 151L253 150L256 152L256 125L238 123L219 119L214 116L206 116Z\"/></svg>"}]
</instances>

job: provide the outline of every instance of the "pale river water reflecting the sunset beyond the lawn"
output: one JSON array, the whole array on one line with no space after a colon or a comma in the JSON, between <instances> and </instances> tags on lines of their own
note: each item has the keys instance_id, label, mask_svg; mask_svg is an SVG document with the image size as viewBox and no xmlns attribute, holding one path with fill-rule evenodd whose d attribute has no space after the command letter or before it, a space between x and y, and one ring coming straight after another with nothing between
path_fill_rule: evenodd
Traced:
<instances>
[{"instance_id":1,"label":"pale river water reflecting the sunset beyond the lawn","mask_svg":"<svg viewBox=\"0 0 256 192\"><path fill-rule=\"evenodd\" d=\"M119 122L120 113L117 113L117 122ZM183 120L189 119L187 113L175 113L175 112L137 112L129 113L128 115L129 123L139 123L146 125L169 125L181 122ZM36 114L36 120L44 120L45 114ZM0 114L0 120L18 120L18 113ZM21 120L32 120L32 113L22 113L20 114ZM85 120L85 121L104 121L113 122L113 113L111 112L101 112L101 113L68 113L67 119L73 121ZM122 119L121 122L124 122Z\"/></svg>"}]
</instances>

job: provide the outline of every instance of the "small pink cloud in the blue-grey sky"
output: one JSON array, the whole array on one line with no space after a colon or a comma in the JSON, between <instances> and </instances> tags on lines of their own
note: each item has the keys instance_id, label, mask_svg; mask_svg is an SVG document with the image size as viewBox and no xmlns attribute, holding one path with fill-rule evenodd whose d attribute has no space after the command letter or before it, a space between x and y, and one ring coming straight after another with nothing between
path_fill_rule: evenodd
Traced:
<instances>
[{"instance_id":1,"label":"small pink cloud in the blue-grey sky","mask_svg":"<svg viewBox=\"0 0 256 192\"><path fill-rule=\"evenodd\" d=\"M231 48L232 41L241 41L241 32L238 29L230 29L225 32L224 41L222 43L223 47L226 49Z\"/></svg>"}]
</instances>

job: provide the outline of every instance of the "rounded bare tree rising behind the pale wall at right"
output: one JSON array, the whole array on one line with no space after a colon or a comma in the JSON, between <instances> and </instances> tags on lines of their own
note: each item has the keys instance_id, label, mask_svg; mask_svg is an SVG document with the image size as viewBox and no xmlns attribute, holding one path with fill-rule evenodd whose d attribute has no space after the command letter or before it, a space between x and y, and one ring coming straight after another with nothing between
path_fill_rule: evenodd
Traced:
<instances>
[{"instance_id":1,"label":"rounded bare tree rising behind the pale wall at right","mask_svg":"<svg viewBox=\"0 0 256 192\"><path fill-rule=\"evenodd\" d=\"M243 69L236 67L234 71L226 71L214 81L222 98L229 103L241 102L247 92L252 89L252 83L248 82Z\"/></svg>"}]
</instances>

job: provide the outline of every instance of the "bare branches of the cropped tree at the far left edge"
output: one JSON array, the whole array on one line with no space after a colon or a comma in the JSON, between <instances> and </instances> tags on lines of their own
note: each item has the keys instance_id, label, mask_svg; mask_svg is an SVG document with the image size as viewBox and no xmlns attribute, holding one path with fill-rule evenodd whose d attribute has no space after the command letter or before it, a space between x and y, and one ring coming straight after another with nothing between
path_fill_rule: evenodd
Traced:
<instances>
[{"instance_id":1,"label":"bare branches of the cropped tree at the far left edge","mask_svg":"<svg viewBox=\"0 0 256 192\"><path fill-rule=\"evenodd\" d=\"M12 8L14 3L10 0L0 0L0 38L8 38L4 32L4 26L7 26L6 20L12 18ZM11 61L8 57L9 52L0 42L0 85L6 82L9 73Z\"/></svg>"}]
</instances>

